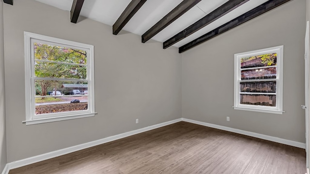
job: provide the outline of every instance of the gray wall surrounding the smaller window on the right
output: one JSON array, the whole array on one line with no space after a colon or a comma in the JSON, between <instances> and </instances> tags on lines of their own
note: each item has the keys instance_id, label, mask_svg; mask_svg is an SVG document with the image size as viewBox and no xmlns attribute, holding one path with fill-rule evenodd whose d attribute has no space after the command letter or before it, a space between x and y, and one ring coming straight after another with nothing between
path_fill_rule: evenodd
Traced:
<instances>
[{"instance_id":1,"label":"gray wall surrounding the smaller window on the right","mask_svg":"<svg viewBox=\"0 0 310 174\"><path fill-rule=\"evenodd\" d=\"M182 116L305 143L306 0L292 0L182 54ZM234 110L233 60L284 45L283 115ZM230 116L230 122L226 121Z\"/></svg>"}]
</instances>

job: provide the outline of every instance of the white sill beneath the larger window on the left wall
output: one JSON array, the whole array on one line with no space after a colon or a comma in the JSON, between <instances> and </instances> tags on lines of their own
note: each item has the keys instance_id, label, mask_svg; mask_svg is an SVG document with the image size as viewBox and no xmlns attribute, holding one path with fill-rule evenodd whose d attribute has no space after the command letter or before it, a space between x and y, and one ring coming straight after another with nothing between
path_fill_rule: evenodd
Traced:
<instances>
[{"instance_id":1,"label":"white sill beneath the larger window on the left wall","mask_svg":"<svg viewBox=\"0 0 310 174\"><path fill-rule=\"evenodd\" d=\"M49 122L55 122L55 121L63 121L63 120L90 117L90 116L95 116L95 114L97 114L97 113L88 113L88 114L79 114L79 115L72 115L72 116L59 116L59 117L51 117L51 118L33 119L33 120L23 121L23 123L26 123L26 125L34 125L34 124L41 124L41 123L49 123Z\"/></svg>"}]
</instances>

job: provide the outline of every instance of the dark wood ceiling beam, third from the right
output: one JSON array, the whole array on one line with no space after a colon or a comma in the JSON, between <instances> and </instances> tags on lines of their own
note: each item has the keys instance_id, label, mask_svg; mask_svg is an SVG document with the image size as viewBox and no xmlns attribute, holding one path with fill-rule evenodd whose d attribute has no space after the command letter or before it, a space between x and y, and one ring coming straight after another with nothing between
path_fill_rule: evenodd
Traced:
<instances>
[{"instance_id":1,"label":"dark wood ceiling beam, third from the right","mask_svg":"<svg viewBox=\"0 0 310 174\"><path fill-rule=\"evenodd\" d=\"M165 15L160 21L158 21L151 29L147 30L142 35L142 43L147 42L154 37L161 30L169 26L173 21L185 14L189 9L194 7L201 0L183 0L178 6L176 6L169 14Z\"/></svg>"}]
</instances>

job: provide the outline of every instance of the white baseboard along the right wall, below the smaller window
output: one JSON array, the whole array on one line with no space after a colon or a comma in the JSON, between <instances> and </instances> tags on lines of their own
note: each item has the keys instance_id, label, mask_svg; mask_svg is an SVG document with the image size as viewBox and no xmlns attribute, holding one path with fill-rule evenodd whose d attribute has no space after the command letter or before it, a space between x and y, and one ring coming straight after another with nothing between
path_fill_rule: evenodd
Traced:
<instances>
[{"instance_id":1,"label":"white baseboard along the right wall, below the smaller window","mask_svg":"<svg viewBox=\"0 0 310 174\"><path fill-rule=\"evenodd\" d=\"M278 138L278 137L273 137L273 136L269 136L269 135L263 135L263 134L260 134L260 133L255 133L255 132L250 132L250 131L242 131L242 130L238 130L238 129L234 129L234 128L229 128L229 127L225 127L225 126L219 126L219 125L205 123L205 122L196 121L196 120L191 120L191 119L187 119L187 118L182 118L182 121L186 121L186 122L189 122L189 123L194 123L194 124L198 124L198 125L202 125L202 126L207 126L207 127L210 127L210 128L216 128L216 129L219 129L219 130L230 131L230 132L234 132L234 133L248 135L248 136L255 137L255 138L260 138L260 139L263 139L263 140L268 140L268 141L273 141L273 142L281 143L281 144L284 144L284 145L292 145L292 146L295 146L295 147L306 149L306 144L305 143L295 142L295 141L291 141L291 140L286 140L286 139L282 139L282 138Z\"/></svg>"}]
</instances>

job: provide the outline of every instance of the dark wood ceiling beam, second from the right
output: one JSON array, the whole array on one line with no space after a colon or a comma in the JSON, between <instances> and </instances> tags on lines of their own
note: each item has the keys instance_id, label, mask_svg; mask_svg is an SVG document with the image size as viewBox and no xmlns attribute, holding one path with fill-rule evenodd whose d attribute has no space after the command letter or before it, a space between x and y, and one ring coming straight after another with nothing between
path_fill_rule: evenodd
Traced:
<instances>
[{"instance_id":1,"label":"dark wood ceiling beam, second from the right","mask_svg":"<svg viewBox=\"0 0 310 174\"><path fill-rule=\"evenodd\" d=\"M182 39L186 38L187 36L193 34L194 32L198 31L199 29L202 29L203 27L211 24L218 18L224 16L225 14L228 14L229 12L233 11L240 5L248 2L249 0L229 0L211 13L205 15L200 20L192 24L191 26L187 27L183 31L180 31L167 41L163 43L163 48L166 49L169 46L173 45L174 43L177 43L181 41Z\"/></svg>"}]
</instances>

